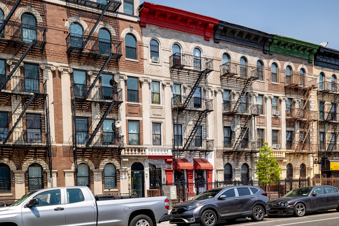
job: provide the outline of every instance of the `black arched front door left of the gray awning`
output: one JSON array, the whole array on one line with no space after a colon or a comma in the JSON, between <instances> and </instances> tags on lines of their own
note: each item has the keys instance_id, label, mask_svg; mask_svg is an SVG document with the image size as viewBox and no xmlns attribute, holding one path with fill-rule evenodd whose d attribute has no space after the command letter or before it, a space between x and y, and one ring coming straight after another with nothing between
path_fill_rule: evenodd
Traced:
<instances>
[{"instance_id":1,"label":"black arched front door left of the gray awning","mask_svg":"<svg viewBox=\"0 0 339 226\"><path fill-rule=\"evenodd\" d=\"M132 190L138 197L145 197L144 166L140 162L135 162L131 166Z\"/></svg>"}]
</instances>

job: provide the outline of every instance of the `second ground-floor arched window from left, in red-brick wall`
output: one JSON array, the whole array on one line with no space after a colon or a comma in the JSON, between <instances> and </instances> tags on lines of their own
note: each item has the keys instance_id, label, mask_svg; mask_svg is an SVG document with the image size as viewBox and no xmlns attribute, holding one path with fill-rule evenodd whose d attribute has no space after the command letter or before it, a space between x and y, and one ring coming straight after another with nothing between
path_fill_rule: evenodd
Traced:
<instances>
[{"instance_id":1,"label":"second ground-floor arched window from left, in red-brick wall","mask_svg":"<svg viewBox=\"0 0 339 226\"><path fill-rule=\"evenodd\" d=\"M28 166L28 191L43 188L43 169L38 163Z\"/></svg>"}]
</instances>

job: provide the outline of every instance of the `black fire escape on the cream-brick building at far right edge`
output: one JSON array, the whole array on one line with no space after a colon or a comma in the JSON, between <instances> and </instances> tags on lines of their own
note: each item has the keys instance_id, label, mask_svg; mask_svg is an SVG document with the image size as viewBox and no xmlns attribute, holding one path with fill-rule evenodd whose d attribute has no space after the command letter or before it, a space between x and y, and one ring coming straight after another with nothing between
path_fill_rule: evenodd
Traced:
<instances>
[{"instance_id":1,"label":"black fire escape on the cream-brick building at far right edge","mask_svg":"<svg viewBox=\"0 0 339 226\"><path fill-rule=\"evenodd\" d=\"M319 109L319 149L318 156L321 159L338 159L339 145L339 114L337 107L339 103L339 84L335 82L320 82L318 85L318 96L331 100L327 109ZM325 106L323 106L325 107ZM330 136L327 134L330 133ZM320 136L321 140L320 140Z\"/></svg>"}]
</instances>

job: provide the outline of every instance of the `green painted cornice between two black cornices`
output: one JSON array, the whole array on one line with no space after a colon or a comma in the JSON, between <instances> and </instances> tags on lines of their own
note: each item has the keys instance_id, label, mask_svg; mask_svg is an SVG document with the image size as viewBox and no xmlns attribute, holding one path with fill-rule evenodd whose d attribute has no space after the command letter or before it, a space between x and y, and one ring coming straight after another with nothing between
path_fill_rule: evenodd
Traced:
<instances>
[{"instance_id":1,"label":"green painted cornice between two black cornices","mask_svg":"<svg viewBox=\"0 0 339 226\"><path fill-rule=\"evenodd\" d=\"M312 63L313 55L320 45L304 42L293 38L275 35L268 48L268 54L279 53L287 56L298 57Z\"/></svg>"}]
</instances>

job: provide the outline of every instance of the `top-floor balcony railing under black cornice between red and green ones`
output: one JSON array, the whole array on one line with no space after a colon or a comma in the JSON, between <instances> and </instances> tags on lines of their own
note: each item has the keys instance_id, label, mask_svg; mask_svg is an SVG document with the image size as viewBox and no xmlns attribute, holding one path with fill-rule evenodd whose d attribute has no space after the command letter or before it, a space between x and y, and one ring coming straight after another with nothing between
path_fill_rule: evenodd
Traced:
<instances>
[{"instance_id":1,"label":"top-floor balcony railing under black cornice between red and green ones","mask_svg":"<svg viewBox=\"0 0 339 226\"><path fill-rule=\"evenodd\" d=\"M231 63L227 62L220 65L220 78L229 78L232 76L236 76L239 78L247 79L247 78L256 78L259 79L260 71L259 68L248 65L241 65L239 63Z\"/></svg>"}]
</instances>

